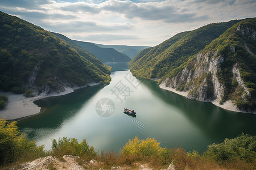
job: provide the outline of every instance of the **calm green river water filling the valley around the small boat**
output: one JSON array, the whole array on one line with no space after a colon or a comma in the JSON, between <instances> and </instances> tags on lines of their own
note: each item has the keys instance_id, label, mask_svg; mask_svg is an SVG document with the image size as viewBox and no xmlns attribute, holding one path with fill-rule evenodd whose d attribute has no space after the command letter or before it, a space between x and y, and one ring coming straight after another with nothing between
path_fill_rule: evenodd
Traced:
<instances>
[{"instance_id":1,"label":"calm green river water filling the valley around the small boat","mask_svg":"<svg viewBox=\"0 0 256 170\"><path fill-rule=\"evenodd\" d=\"M208 145L242 132L256 135L253 114L188 100L160 89L150 80L138 81L126 64L112 66L108 86L92 86L36 101L44 112L19 121L20 130L47 150L53 138L74 137L79 141L86 138L96 151L117 152L135 136L155 138L167 148L203 152ZM134 109L137 117L123 113L123 108Z\"/></svg>"}]
</instances>

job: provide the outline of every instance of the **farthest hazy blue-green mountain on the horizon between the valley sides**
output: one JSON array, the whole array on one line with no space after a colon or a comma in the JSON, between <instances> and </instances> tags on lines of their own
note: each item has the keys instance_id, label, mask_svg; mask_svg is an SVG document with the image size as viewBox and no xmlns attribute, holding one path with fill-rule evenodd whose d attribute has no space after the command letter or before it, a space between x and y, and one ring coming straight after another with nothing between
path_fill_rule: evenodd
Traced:
<instances>
[{"instance_id":1,"label":"farthest hazy blue-green mountain on the horizon between the valley sides","mask_svg":"<svg viewBox=\"0 0 256 170\"><path fill-rule=\"evenodd\" d=\"M118 52L126 54L131 59L133 59L141 50L149 48L150 46L129 46L129 45L103 45L103 44L96 44L102 48L113 48Z\"/></svg>"}]
</instances>

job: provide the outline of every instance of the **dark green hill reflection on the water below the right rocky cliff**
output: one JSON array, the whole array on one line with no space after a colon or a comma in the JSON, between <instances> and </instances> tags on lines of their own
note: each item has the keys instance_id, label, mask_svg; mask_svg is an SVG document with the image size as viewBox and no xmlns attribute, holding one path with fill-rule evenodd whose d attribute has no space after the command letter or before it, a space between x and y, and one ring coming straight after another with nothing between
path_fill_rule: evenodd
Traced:
<instances>
[{"instance_id":1,"label":"dark green hill reflection on the water below the right rocky cliff","mask_svg":"<svg viewBox=\"0 0 256 170\"><path fill-rule=\"evenodd\" d=\"M216 142L222 142L224 138L234 138L242 132L256 134L254 114L231 112L216 107L212 103L188 100L183 96L158 88L156 82L151 80L143 80L142 83L154 91L154 96L158 96L164 103L181 109L180 113L183 113L190 122Z\"/></svg>"}]
</instances>

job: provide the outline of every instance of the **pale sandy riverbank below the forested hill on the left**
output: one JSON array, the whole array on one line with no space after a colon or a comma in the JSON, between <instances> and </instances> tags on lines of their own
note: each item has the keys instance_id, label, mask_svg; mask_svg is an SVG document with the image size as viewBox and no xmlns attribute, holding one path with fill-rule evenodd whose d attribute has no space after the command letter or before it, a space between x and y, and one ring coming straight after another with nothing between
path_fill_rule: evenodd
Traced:
<instances>
[{"instance_id":1,"label":"pale sandy riverbank below the forested hill on the left","mask_svg":"<svg viewBox=\"0 0 256 170\"><path fill-rule=\"evenodd\" d=\"M92 83L90 86L98 85L99 83ZM84 86L86 87L86 86ZM65 91L52 94L40 94L35 97L24 97L23 94L13 94L11 92L1 92L1 94L8 97L8 104L5 109L0 111L0 118L6 118L6 120L16 120L28 116L39 114L41 107L36 105L34 101L44 99L53 96L62 96L72 93L74 90L84 87L65 87Z\"/></svg>"}]
</instances>

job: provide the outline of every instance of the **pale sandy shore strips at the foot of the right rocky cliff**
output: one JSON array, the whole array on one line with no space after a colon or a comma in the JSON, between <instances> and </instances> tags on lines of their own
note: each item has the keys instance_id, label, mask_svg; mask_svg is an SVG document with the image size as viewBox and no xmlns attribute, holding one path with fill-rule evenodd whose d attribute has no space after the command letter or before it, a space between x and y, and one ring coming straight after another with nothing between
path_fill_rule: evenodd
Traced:
<instances>
[{"instance_id":1,"label":"pale sandy shore strips at the foot of the right rocky cliff","mask_svg":"<svg viewBox=\"0 0 256 170\"><path fill-rule=\"evenodd\" d=\"M184 96L184 97L188 96L188 92L177 91L174 88L166 87L164 83L161 83L159 87L164 89L164 90L168 90L168 91L174 92L175 94L178 94L178 95L181 95L181 96ZM241 111L240 109L238 109L236 107L236 105L234 105L232 103L232 101L230 101L230 100L226 101L224 104L220 104L218 100L211 101L211 103L216 105L217 107L220 107L222 109L226 109L228 111L248 113L248 112ZM249 112L249 113L256 114L256 112Z\"/></svg>"}]
</instances>

